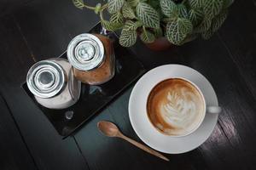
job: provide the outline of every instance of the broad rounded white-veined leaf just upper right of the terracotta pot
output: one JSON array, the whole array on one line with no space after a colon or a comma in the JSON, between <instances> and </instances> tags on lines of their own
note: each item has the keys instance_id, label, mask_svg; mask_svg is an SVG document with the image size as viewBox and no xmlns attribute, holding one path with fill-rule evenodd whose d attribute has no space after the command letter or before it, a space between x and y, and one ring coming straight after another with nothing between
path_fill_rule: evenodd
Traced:
<instances>
[{"instance_id":1,"label":"broad rounded white-veined leaf just upper right of the terracotta pot","mask_svg":"<svg viewBox=\"0 0 256 170\"><path fill-rule=\"evenodd\" d=\"M187 19L179 18L177 20L172 20L167 23L166 37L173 44L179 45L192 29L192 23Z\"/></svg>"}]
</instances>

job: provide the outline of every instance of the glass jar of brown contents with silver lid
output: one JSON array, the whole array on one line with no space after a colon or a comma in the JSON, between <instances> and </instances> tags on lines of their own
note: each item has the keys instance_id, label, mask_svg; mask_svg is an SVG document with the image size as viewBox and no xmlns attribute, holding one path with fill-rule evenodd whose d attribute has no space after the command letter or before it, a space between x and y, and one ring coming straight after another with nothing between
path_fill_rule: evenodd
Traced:
<instances>
[{"instance_id":1,"label":"glass jar of brown contents with silver lid","mask_svg":"<svg viewBox=\"0 0 256 170\"><path fill-rule=\"evenodd\" d=\"M98 85L108 82L115 71L113 42L100 34L80 34L67 47L74 76L81 82Z\"/></svg>"}]
</instances>

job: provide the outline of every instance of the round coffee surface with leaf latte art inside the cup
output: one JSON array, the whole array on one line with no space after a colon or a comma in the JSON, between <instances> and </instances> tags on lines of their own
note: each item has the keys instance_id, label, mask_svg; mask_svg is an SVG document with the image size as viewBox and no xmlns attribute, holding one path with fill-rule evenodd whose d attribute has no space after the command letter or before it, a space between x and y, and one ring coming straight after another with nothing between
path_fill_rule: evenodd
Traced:
<instances>
[{"instance_id":1,"label":"round coffee surface with leaf latte art inside the cup","mask_svg":"<svg viewBox=\"0 0 256 170\"><path fill-rule=\"evenodd\" d=\"M183 79L168 79L157 84L148 96L150 122L162 133L182 135L201 122L204 101L197 88Z\"/></svg>"}]
</instances>

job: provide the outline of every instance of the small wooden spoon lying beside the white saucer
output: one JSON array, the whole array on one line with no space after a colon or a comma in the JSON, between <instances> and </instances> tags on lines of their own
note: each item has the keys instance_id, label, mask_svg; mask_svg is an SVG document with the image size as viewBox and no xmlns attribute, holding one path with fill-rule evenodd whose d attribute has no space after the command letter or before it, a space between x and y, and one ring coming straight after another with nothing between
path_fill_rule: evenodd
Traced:
<instances>
[{"instance_id":1,"label":"small wooden spoon lying beside the white saucer","mask_svg":"<svg viewBox=\"0 0 256 170\"><path fill-rule=\"evenodd\" d=\"M147 151L149 154L160 157L161 159L163 159L165 161L169 161L169 159L166 158L166 156L163 156L159 152L149 148L148 146L145 146L144 144L140 144L133 139L126 137L123 133L121 133L119 131L119 128L112 122L101 121L101 122L97 123L97 127L103 134L105 134L108 137L118 137L121 139L125 139L126 141L130 142L131 144L136 145L138 148Z\"/></svg>"}]
</instances>

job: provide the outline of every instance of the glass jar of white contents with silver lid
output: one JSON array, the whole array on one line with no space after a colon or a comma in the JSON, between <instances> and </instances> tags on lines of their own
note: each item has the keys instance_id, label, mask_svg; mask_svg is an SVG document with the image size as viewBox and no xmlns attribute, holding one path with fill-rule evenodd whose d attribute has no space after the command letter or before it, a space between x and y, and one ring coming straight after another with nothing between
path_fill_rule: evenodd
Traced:
<instances>
[{"instance_id":1,"label":"glass jar of white contents with silver lid","mask_svg":"<svg viewBox=\"0 0 256 170\"><path fill-rule=\"evenodd\" d=\"M65 109L79 100L81 82L73 76L67 59L42 60L32 65L26 84L40 105Z\"/></svg>"}]
</instances>

